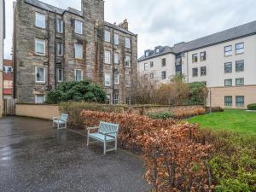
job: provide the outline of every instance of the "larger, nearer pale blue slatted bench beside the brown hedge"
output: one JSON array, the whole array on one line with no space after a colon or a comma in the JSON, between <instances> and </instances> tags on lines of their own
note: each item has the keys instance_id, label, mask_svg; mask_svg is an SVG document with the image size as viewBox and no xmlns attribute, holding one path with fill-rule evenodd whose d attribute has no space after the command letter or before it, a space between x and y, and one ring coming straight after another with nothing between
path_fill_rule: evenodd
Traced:
<instances>
[{"instance_id":1,"label":"larger, nearer pale blue slatted bench beside the brown hedge","mask_svg":"<svg viewBox=\"0 0 256 192\"><path fill-rule=\"evenodd\" d=\"M95 130L96 132L91 132ZM100 142L104 143L104 154L109 151L116 151L117 150L117 137L119 132L119 125L118 124L111 124L102 122L97 127L88 127L87 128L87 146L90 143ZM94 142L90 142L90 138L95 140ZM114 148L107 149L107 143L113 143Z\"/></svg>"}]
</instances>

